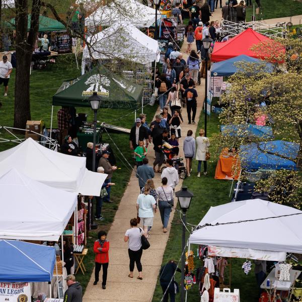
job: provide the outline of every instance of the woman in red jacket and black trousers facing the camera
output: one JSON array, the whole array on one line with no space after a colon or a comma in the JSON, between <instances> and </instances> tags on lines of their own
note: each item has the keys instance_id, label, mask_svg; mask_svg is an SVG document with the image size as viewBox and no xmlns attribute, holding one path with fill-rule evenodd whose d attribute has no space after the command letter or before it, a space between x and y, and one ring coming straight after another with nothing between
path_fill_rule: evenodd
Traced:
<instances>
[{"instance_id":1,"label":"woman in red jacket and black trousers facing the camera","mask_svg":"<svg viewBox=\"0 0 302 302\"><path fill-rule=\"evenodd\" d=\"M107 281L107 269L109 265L109 241L106 240L107 233L105 231L100 231L98 233L98 240L95 242L93 251L96 254L95 257L95 281L93 285L97 285L99 281L99 273L101 270L101 267L103 265L103 282L102 282L102 288L106 289L106 281Z\"/></svg>"}]
</instances>

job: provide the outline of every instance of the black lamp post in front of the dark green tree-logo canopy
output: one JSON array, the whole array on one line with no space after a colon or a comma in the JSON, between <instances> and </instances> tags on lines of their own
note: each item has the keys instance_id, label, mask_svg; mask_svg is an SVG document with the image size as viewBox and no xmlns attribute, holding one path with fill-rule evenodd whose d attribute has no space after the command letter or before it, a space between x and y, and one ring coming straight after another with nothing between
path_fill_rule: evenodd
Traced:
<instances>
[{"instance_id":1,"label":"black lamp post in front of the dark green tree-logo canopy","mask_svg":"<svg viewBox=\"0 0 302 302\"><path fill-rule=\"evenodd\" d=\"M92 153L92 172L96 172L96 139L97 139L97 113L100 107L101 98L98 96L97 92L94 92L91 97L88 98L90 102L90 106L94 112L94 121L93 121L93 153ZM93 218L93 204L91 198L90 205L88 209L90 209L90 226L91 229L97 229L98 225L94 222Z\"/></svg>"}]
</instances>

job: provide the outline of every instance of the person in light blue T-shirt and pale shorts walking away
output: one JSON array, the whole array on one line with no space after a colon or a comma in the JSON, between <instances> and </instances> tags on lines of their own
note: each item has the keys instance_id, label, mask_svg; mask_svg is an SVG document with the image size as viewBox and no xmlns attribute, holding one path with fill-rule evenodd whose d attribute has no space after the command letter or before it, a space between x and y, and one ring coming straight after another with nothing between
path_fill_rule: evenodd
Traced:
<instances>
[{"instance_id":1,"label":"person in light blue T-shirt and pale shorts walking away","mask_svg":"<svg viewBox=\"0 0 302 302\"><path fill-rule=\"evenodd\" d=\"M156 200L153 196L149 195L149 187L145 187L143 194L138 195L136 209L140 222L143 225L144 236L148 238L148 226L153 225L153 211L156 212Z\"/></svg>"}]
</instances>

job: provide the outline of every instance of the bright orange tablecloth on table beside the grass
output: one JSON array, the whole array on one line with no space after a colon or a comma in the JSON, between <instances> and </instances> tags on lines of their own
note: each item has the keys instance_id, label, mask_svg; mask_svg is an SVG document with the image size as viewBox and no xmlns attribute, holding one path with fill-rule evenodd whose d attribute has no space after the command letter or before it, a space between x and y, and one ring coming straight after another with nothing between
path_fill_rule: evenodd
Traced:
<instances>
[{"instance_id":1,"label":"bright orange tablecloth on table beside the grass","mask_svg":"<svg viewBox=\"0 0 302 302\"><path fill-rule=\"evenodd\" d=\"M238 179L241 170L238 156L229 153L228 148L223 149L216 166L215 179Z\"/></svg>"}]
</instances>

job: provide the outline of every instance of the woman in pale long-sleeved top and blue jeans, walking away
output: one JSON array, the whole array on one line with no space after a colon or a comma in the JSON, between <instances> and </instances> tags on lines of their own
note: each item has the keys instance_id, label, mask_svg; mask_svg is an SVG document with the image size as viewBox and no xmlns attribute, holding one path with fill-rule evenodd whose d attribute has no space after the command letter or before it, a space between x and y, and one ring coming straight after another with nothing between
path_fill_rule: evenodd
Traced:
<instances>
[{"instance_id":1,"label":"woman in pale long-sleeved top and blue jeans, walking away","mask_svg":"<svg viewBox=\"0 0 302 302\"><path fill-rule=\"evenodd\" d=\"M167 233L167 226L170 218L171 208L174 206L174 192L172 187L168 186L167 183L167 177L163 177L163 185L156 189L156 193L159 196L159 209L161 213L164 233Z\"/></svg>"}]
</instances>

